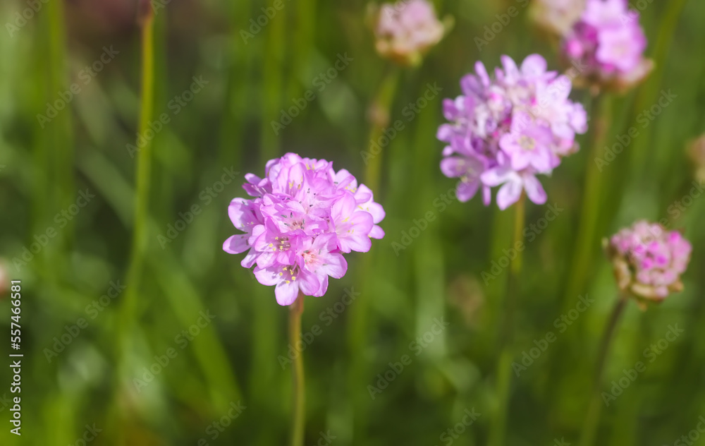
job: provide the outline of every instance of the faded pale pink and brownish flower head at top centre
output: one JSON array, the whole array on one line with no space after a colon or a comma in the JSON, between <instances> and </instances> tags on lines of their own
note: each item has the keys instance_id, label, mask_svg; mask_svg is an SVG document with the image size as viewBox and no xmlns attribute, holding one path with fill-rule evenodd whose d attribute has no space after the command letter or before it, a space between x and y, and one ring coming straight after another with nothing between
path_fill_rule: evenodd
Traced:
<instances>
[{"instance_id":1,"label":"faded pale pink and brownish flower head at top centre","mask_svg":"<svg viewBox=\"0 0 705 446\"><path fill-rule=\"evenodd\" d=\"M445 32L427 0L400 0L373 11L376 49L401 65L417 65Z\"/></svg>"}]
</instances>

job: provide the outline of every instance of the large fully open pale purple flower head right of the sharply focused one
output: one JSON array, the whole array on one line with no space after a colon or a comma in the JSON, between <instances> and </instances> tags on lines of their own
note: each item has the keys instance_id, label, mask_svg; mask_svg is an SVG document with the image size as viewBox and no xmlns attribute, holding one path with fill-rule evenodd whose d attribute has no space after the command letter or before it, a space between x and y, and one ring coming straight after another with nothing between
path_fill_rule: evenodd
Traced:
<instances>
[{"instance_id":1,"label":"large fully open pale purple flower head right of the sharply focused one","mask_svg":"<svg viewBox=\"0 0 705 446\"><path fill-rule=\"evenodd\" d=\"M503 69L490 78L482 62L476 75L462 78L462 95L443 100L443 114L451 123L440 126L443 149L441 171L460 178L458 200L467 201L482 186L485 205L491 187L501 209L519 200L526 191L530 200L546 203L546 192L537 174L551 174L560 158L577 150L575 134L587 131L581 104L568 99L571 83L566 76L546 71L546 60L528 56L521 67L508 56Z\"/></svg>"}]
</instances>

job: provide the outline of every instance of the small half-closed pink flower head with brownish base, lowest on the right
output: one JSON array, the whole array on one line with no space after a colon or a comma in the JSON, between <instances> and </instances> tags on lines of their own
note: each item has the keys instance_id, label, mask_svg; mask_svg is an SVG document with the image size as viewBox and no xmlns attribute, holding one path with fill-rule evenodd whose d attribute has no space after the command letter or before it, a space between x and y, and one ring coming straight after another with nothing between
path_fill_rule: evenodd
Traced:
<instances>
[{"instance_id":1,"label":"small half-closed pink flower head with brownish base, lowest on the right","mask_svg":"<svg viewBox=\"0 0 705 446\"><path fill-rule=\"evenodd\" d=\"M618 287L642 304L663 301L682 290L680 275L688 266L692 247L680 232L641 220L605 243Z\"/></svg>"}]
</instances>

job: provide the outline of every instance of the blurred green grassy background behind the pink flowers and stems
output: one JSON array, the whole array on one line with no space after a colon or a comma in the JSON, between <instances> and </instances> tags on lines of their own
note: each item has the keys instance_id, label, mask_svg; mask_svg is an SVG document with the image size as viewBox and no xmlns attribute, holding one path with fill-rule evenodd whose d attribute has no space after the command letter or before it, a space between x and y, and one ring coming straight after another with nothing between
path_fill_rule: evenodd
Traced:
<instances>
[{"instance_id":1,"label":"blurred green grassy background behind the pink flowers and stems","mask_svg":"<svg viewBox=\"0 0 705 446\"><path fill-rule=\"evenodd\" d=\"M384 107L371 104L394 68L374 52L363 1L284 0L257 32L250 20L269 1L153 1L151 121L165 114L168 122L151 125L145 256L130 289L137 160L130 145L141 76L136 3L0 6L0 23L11 24L0 32L0 255L5 280L22 280L24 354L21 441L9 433L12 377L0 363L0 442L286 444L291 370L280 356L288 354L288 311L276 304L274 289L240 267L242 255L221 251L235 233L228 203L245 195L244 174L262 175L266 159L288 151L333 160L364 181L370 118L384 118ZM521 60L538 52L559 68L555 47L534 31L526 4L436 1L439 16L455 18L453 30L421 67L399 71L388 114L404 128L377 155L381 181L374 190L386 210L386 237L366 255L349 255L348 274L331 281L325 297L306 300L302 331L312 339L304 351L306 444L486 444L497 404L507 270L487 281L482 272L505 263L513 212L484 207L477 197L444 203L455 182L439 171L443 145L435 133L443 97L459 94L460 77L474 61L494 67L501 54ZM518 16L486 34L510 6ZM673 445L705 415L705 198L684 201L695 181L687 143L705 131L705 4L633 6L642 10L656 70L613 102L608 145L630 127L639 136L599 174L599 213L580 268L575 241L592 162L589 135L580 138L577 155L542 179L548 203L560 209L556 219L544 224L548 205L527 205L527 234L534 237L517 296L515 361L548 332L556 342L513 375L511 446L579 441L599 337L615 301L600 239L639 218L684 229L694 253L685 291L646 312L634 303L627 308L604 390L637 361L646 362L646 371L603 407L598 443ZM31 17L17 25L27 8ZM482 50L475 37L486 39ZM339 57L351 60L330 71ZM202 86L192 86L194 78ZM415 111L410 104L429 83L442 91ZM272 121L308 90L313 99L275 132ZM644 121L642 113L663 90L675 99ZM589 107L587 92L572 97ZM54 113L48 103L65 107ZM94 198L80 199L81 193ZM673 212L675 203L686 205ZM197 215L189 216L194 209ZM427 214L434 218L424 223ZM415 238L406 239L410 233ZM32 243L42 245L37 253ZM346 290L359 296L343 299ZM128 293L131 306L124 303ZM561 332L554 321L576 308L579 296L594 303ZM3 291L6 335L10 309ZM429 336L441 318L449 325ZM649 362L645 349L675 324L685 331ZM314 325L319 335L311 335ZM424 335L424 347L412 344ZM3 351L14 353L9 346ZM403 355L411 363L372 399L368 386L384 385L380 376ZM467 429L458 425L466 409L481 414ZM692 444L705 445L705 436Z\"/></svg>"}]
</instances>

